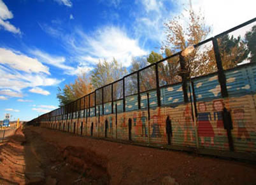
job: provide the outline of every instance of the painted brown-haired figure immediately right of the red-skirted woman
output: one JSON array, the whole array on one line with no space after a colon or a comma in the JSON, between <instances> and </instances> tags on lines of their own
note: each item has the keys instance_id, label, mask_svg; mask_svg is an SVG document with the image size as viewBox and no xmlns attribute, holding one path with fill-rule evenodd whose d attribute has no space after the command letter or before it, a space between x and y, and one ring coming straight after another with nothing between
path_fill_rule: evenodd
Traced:
<instances>
[{"instance_id":1,"label":"painted brown-haired figure immediately right of the red-skirted woman","mask_svg":"<svg viewBox=\"0 0 256 185\"><path fill-rule=\"evenodd\" d=\"M222 135L221 130L224 129L222 111L224 108L224 102L222 99L217 99L213 101L213 117L217 121L217 131L218 135Z\"/></svg>"}]
</instances>

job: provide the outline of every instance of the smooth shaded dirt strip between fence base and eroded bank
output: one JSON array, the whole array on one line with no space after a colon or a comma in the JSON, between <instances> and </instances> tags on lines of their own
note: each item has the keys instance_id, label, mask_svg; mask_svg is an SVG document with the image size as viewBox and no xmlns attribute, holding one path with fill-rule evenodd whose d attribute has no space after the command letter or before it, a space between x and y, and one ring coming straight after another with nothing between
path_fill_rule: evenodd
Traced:
<instances>
[{"instance_id":1,"label":"smooth shaded dirt strip between fence base and eroded bank","mask_svg":"<svg viewBox=\"0 0 256 185\"><path fill-rule=\"evenodd\" d=\"M256 182L256 165L249 163L114 143L42 127L27 127L27 130L53 144L80 171L103 179L106 173L110 184Z\"/></svg>"}]
</instances>

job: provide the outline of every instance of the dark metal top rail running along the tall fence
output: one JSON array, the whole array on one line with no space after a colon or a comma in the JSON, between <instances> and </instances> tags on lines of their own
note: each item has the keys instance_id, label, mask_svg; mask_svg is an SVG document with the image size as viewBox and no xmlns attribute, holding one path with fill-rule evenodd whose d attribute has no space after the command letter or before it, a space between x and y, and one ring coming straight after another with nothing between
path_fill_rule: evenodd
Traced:
<instances>
[{"instance_id":1,"label":"dark metal top rail running along the tall fence","mask_svg":"<svg viewBox=\"0 0 256 185\"><path fill-rule=\"evenodd\" d=\"M221 37L222 35L229 34L230 32L232 32L232 31L234 31L234 30L240 29L241 27L245 27L246 25L249 25L250 23L253 23L253 22L256 22L256 18L252 18L251 20L248 20L247 22L241 23L240 25L238 25L238 26L236 26L236 27L233 27L232 29L226 30L226 31L224 31L224 32L222 32L222 33L220 33L220 34L218 34L218 35L215 35L214 37L210 37L209 39L206 39L206 40L204 40L204 41L202 41L202 42L199 42L198 44L195 44L195 45L194 45L194 48L197 48L198 46L201 46L201 45L205 44L206 42L212 41L214 38ZM85 98L86 96L90 96L91 94L96 93L96 91L99 91L100 89L103 89L103 88L106 87L106 86L110 86L110 85L112 85L112 84L115 84L115 83L117 83L117 82L120 82L120 81L124 80L125 78L129 77L130 75L134 75L135 73L138 73L138 72L140 72L140 71L142 71L142 70L145 70L146 68L153 67L154 65L157 65L157 64L159 64L159 63L161 63L161 62L163 62L163 61L169 60L170 58L173 58L174 56L178 56L178 55L181 54L181 52L182 52L182 51L178 51L177 53L174 53L174 54L171 55L171 56L167 56L166 58L163 58L162 60L155 61L155 63L152 63L152 64L150 64L150 65L148 65L148 66L146 66L146 67L144 67L144 68L140 68L139 70L137 70L137 71L135 71L135 72L129 73L129 74L125 75L124 77L122 77L122 79L115 80L114 82L111 82L110 84L106 84L106 85L104 85L103 87L99 87L99 88L95 89L94 91L92 91L91 93L86 94L85 96L82 96L82 97L76 99L75 101L78 101L79 99ZM250 63L249 63L249 64L246 64L246 65L250 65ZM244 65L241 65L241 66L244 66ZM239 68L239 67L240 67L240 66L238 66L238 68ZM237 68L237 67L236 67L236 68ZM232 70L232 69L230 69L230 70ZM203 75L203 76L204 76L204 75ZM201 76L200 76L200 77L201 77ZM194 78L192 78L192 79L196 79L196 78L197 78L197 77L194 77ZM66 105L62 105L62 106L69 106L69 105L71 105L71 103L74 103L75 101L72 101L72 102L70 102L70 103L68 103L68 104L66 104ZM61 108L62 106L60 106L60 108ZM91 106L91 107L94 107L94 106ZM91 107L90 107L90 108L91 108ZM58 110L58 109L59 109L59 108L57 108L56 110ZM51 112L45 113L45 114L43 114L43 115L51 114L51 113L53 113L53 111L56 111L56 110L52 110ZM41 115L41 116L39 116L39 117L42 117L43 115ZM38 118L39 118L39 117L38 117Z\"/></svg>"}]
</instances>

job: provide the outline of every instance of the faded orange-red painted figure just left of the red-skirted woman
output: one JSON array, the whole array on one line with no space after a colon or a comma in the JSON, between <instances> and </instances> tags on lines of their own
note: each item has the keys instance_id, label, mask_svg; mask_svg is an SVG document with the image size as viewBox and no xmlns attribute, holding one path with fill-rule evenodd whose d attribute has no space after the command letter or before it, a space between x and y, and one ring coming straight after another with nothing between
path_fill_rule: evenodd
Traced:
<instances>
[{"instance_id":1,"label":"faded orange-red painted figure just left of the red-skirted woman","mask_svg":"<svg viewBox=\"0 0 256 185\"><path fill-rule=\"evenodd\" d=\"M183 117L185 118L184 142L187 141L187 134L190 135L190 141L193 141L192 113L188 104L183 112Z\"/></svg>"}]
</instances>

